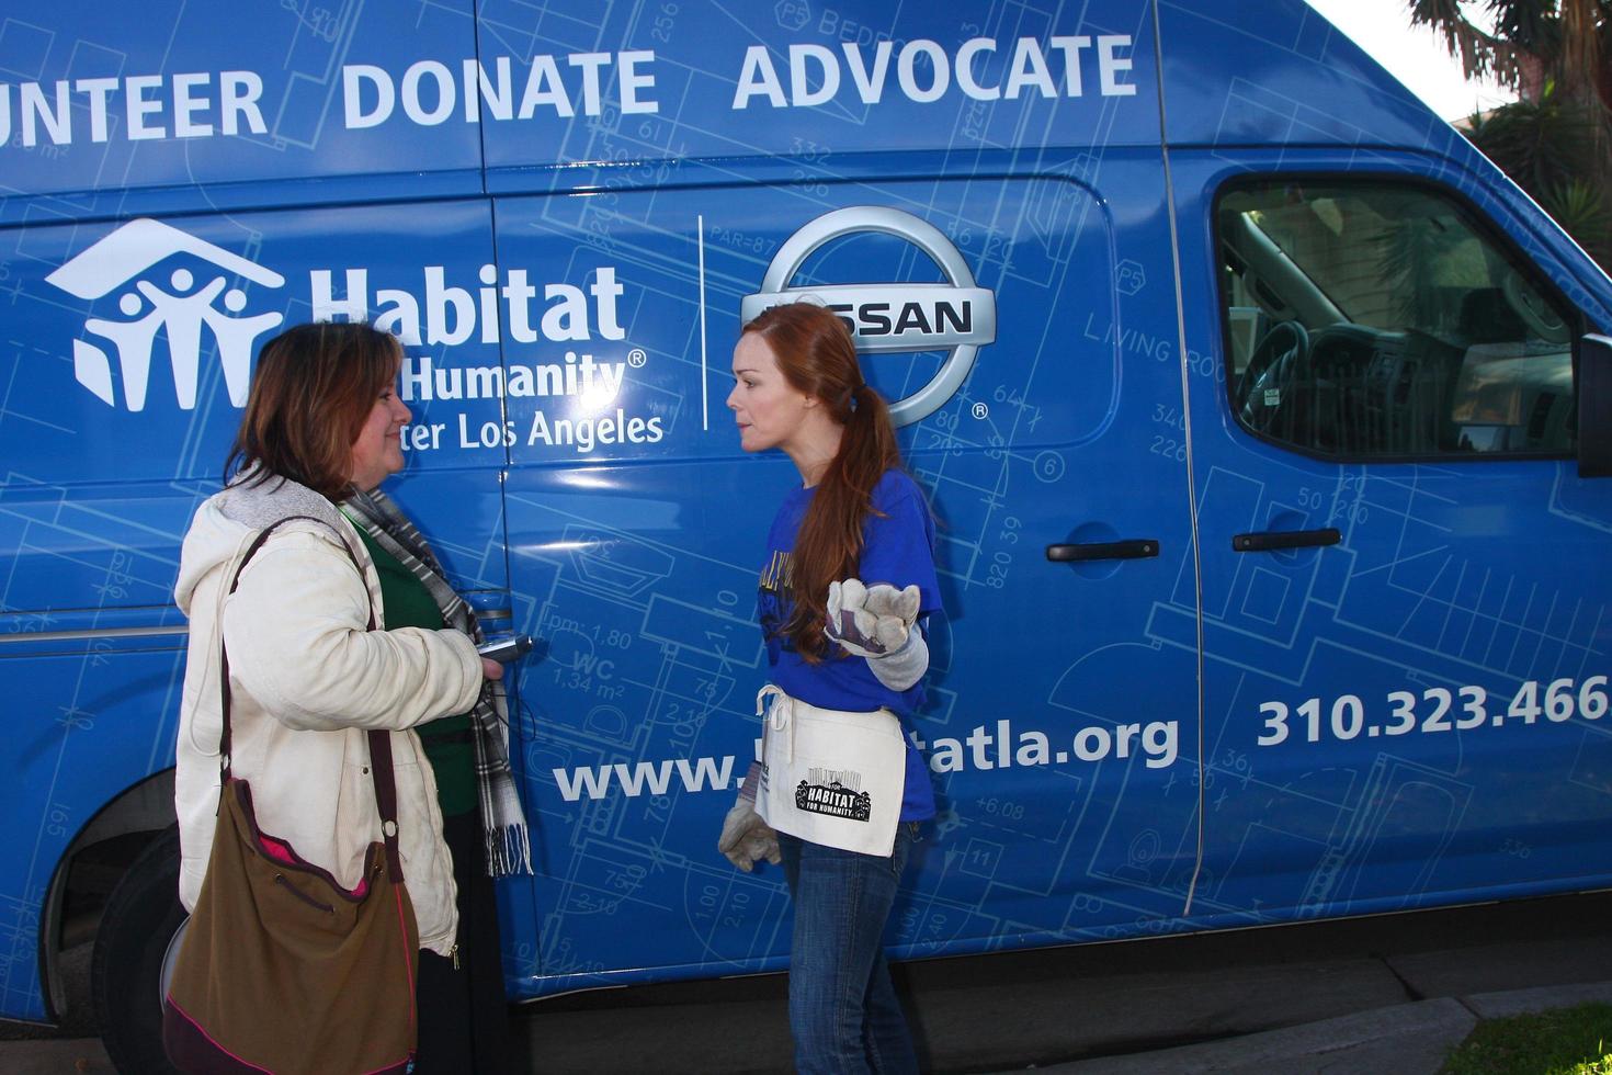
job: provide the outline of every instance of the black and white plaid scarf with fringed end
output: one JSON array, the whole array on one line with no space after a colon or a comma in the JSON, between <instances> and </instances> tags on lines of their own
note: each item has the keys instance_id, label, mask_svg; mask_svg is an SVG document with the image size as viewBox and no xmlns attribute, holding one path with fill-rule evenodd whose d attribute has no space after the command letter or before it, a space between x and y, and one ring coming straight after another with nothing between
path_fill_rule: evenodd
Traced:
<instances>
[{"instance_id":1,"label":"black and white plaid scarf with fringed end","mask_svg":"<svg viewBox=\"0 0 1612 1075\"><path fill-rule=\"evenodd\" d=\"M348 516L369 532L380 548L403 562L442 609L442 622L463 630L476 645L485 641L476 614L442 575L437 554L426 538L380 490L353 493L342 501ZM493 877L532 872L532 845L521 796L509 772L509 709L501 682L487 680L471 711L476 743L476 783L487 840L487 872Z\"/></svg>"}]
</instances>

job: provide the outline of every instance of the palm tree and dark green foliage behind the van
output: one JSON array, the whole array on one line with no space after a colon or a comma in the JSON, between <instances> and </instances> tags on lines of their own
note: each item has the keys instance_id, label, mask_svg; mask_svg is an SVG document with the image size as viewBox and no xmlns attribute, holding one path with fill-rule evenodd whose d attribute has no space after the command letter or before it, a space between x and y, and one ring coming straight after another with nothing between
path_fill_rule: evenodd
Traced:
<instances>
[{"instance_id":1,"label":"palm tree and dark green foliage behind the van","mask_svg":"<svg viewBox=\"0 0 1612 1075\"><path fill-rule=\"evenodd\" d=\"M1612 271L1612 0L1486 0L1493 29L1462 0L1409 0L1467 77L1519 102L1473 116L1467 137Z\"/></svg>"}]
</instances>

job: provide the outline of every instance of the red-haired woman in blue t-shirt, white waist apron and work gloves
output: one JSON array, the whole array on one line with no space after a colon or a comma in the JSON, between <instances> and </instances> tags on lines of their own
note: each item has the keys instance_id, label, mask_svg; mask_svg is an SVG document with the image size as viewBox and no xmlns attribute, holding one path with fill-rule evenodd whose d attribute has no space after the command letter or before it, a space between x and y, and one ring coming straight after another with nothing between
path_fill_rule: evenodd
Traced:
<instances>
[{"instance_id":1,"label":"red-haired woman in blue t-shirt, white waist apron and work gloves","mask_svg":"<svg viewBox=\"0 0 1612 1075\"><path fill-rule=\"evenodd\" d=\"M782 450L801 485L761 572L762 759L719 846L750 869L777 832L795 899L798 1070L916 1072L882 936L917 824L935 816L901 727L924 703L924 617L940 608L935 524L833 313L793 303L758 316L733 348L733 380L740 445Z\"/></svg>"}]
</instances>

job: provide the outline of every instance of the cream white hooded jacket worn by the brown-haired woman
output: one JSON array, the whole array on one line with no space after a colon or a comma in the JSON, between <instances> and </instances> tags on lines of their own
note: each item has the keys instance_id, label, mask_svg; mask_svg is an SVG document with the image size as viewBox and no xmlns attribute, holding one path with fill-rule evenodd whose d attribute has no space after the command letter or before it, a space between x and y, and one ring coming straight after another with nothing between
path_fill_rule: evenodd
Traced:
<instances>
[{"instance_id":1,"label":"cream white hooded jacket worn by the brown-haired woman","mask_svg":"<svg viewBox=\"0 0 1612 1075\"><path fill-rule=\"evenodd\" d=\"M224 600L258 530L287 516L322 524L276 530ZM353 550L363 575L339 542ZM482 662L471 640L456 630L380 630L380 580L358 532L330 501L279 479L202 504L185 533L176 600L190 617L174 793L181 903L195 906L218 814L222 629L232 772L251 785L261 828L356 886L364 849L380 840L366 732L390 728L403 877L421 948L450 954L458 932L453 864L437 780L409 728L476 703ZM366 630L371 603L377 630Z\"/></svg>"}]
</instances>

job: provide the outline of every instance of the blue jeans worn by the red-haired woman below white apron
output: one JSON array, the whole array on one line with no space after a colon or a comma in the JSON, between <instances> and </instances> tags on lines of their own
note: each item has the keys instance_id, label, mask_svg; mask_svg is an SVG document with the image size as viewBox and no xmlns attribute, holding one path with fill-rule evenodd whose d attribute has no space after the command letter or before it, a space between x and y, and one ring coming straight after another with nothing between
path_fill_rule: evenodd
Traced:
<instances>
[{"instance_id":1,"label":"blue jeans worn by the red-haired woman below white apron","mask_svg":"<svg viewBox=\"0 0 1612 1075\"><path fill-rule=\"evenodd\" d=\"M779 833L795 898L790 1031L801 1075L917 1072L883 949L914 828L909 822L896 827L890 857Z\"/></svg>"}]
</instances>

